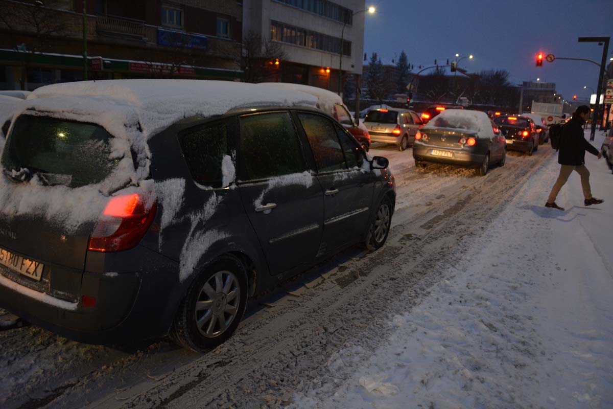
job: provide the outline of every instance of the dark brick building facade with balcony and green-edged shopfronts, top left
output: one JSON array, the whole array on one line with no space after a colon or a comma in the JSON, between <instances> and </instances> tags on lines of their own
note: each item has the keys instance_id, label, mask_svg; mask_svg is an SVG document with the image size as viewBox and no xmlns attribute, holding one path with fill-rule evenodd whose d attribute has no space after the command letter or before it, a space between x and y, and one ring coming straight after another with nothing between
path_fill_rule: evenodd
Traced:
<instances>
[{"instance_id":1,"label":"dark brick building facade with balcony and green-edged shopfronts, top left","mask_svg":"<svg viewBox=\"0 0 613 409\"><path fill-rule=\"evenodd\" d=\"M243 76L241 1L85 4L84 10L83 0L2 0L0 87L82 80L85 64L88 79Z\"/></svg>"}]
</instances>

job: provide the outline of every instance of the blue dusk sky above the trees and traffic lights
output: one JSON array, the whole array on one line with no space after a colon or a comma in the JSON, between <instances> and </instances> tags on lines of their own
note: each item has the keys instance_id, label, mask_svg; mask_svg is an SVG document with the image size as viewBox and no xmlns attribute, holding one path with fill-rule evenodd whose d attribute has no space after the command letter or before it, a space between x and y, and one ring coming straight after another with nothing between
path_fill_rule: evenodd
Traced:
<instances>
[{"instance_id":1,"label":"blue dusk sky above the trees and traffic lights","mask_svg":"<svg viewBox=\"0 0 613 409\"><path fill-rule=\"evenodd\" d=\"M596 89L599 68L583 61L543 62L535 66L539 51L545 55L588 58L600 64L603 46L579 43L578 37L613 37L611 0L457 1L410 2L368 1L375 15L366 15L364 52L376 52L391 63L402 50L414 66L432 65L434 59L473 54L460 67L468 72L505 69L512 83L527 80L555 82L566 98L588 97ZM609 58L613 44L609 44ZM365 61L368 64L368 61ZM416 70L417 71L417 70Z\"/></svg>"}]
</instances>

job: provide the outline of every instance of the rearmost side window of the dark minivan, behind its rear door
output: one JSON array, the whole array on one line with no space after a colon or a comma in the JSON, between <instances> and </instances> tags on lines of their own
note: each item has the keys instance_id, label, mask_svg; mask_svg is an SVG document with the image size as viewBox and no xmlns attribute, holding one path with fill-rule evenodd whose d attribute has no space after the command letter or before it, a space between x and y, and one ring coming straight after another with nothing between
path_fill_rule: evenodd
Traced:
<instances>
[{"instance_id":1,"label":"rearmost side window of the dark minivan, behind its rear door","mask_svg":"<svg viewBox=\"0 0 613 409\"><path fill-rule=\"evenodd\" d=\"M229 155L226 124L216 122L188 129L180 134L179 143L194 181L220 188L223 179L221 162L225 155Z\"/></svg>"}]
</instances>

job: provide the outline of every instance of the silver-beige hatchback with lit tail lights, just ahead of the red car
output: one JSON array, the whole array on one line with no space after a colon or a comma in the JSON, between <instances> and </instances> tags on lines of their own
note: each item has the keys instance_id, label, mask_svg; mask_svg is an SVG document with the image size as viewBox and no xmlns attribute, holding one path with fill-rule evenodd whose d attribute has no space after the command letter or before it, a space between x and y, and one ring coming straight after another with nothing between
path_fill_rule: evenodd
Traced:
<instances>
[{"instance_id":1,"label":"silver-beige hatchback with lit tail lights, just ahead of the red car","mask_svg":"<svg viewBox=\"0 0 613 409\"><path fill-rule=\"evenodd\" d=\"M401 151L413 145L423 124L415 112L401 108L371 110L364 118L371 142L394 143Z\"/></svg>"}]
</instances>

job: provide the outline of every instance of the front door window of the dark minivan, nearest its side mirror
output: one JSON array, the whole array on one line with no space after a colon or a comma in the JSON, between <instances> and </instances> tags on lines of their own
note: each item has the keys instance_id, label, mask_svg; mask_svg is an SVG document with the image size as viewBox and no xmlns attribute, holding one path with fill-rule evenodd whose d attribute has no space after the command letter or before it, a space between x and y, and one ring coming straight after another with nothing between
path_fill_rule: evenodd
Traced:
<instances>
[{"instance_id":1,"label":"front door window of the dark minivan, nearest its side mirror","mask_svg":"<svg viewBox=\"0 0 613 409\"><path fill-rule=\"evenodd\" d=\"M319 172L346 169L343 149L332 121L313 113L299 113Z\"/></svg>"}]
</instances>

